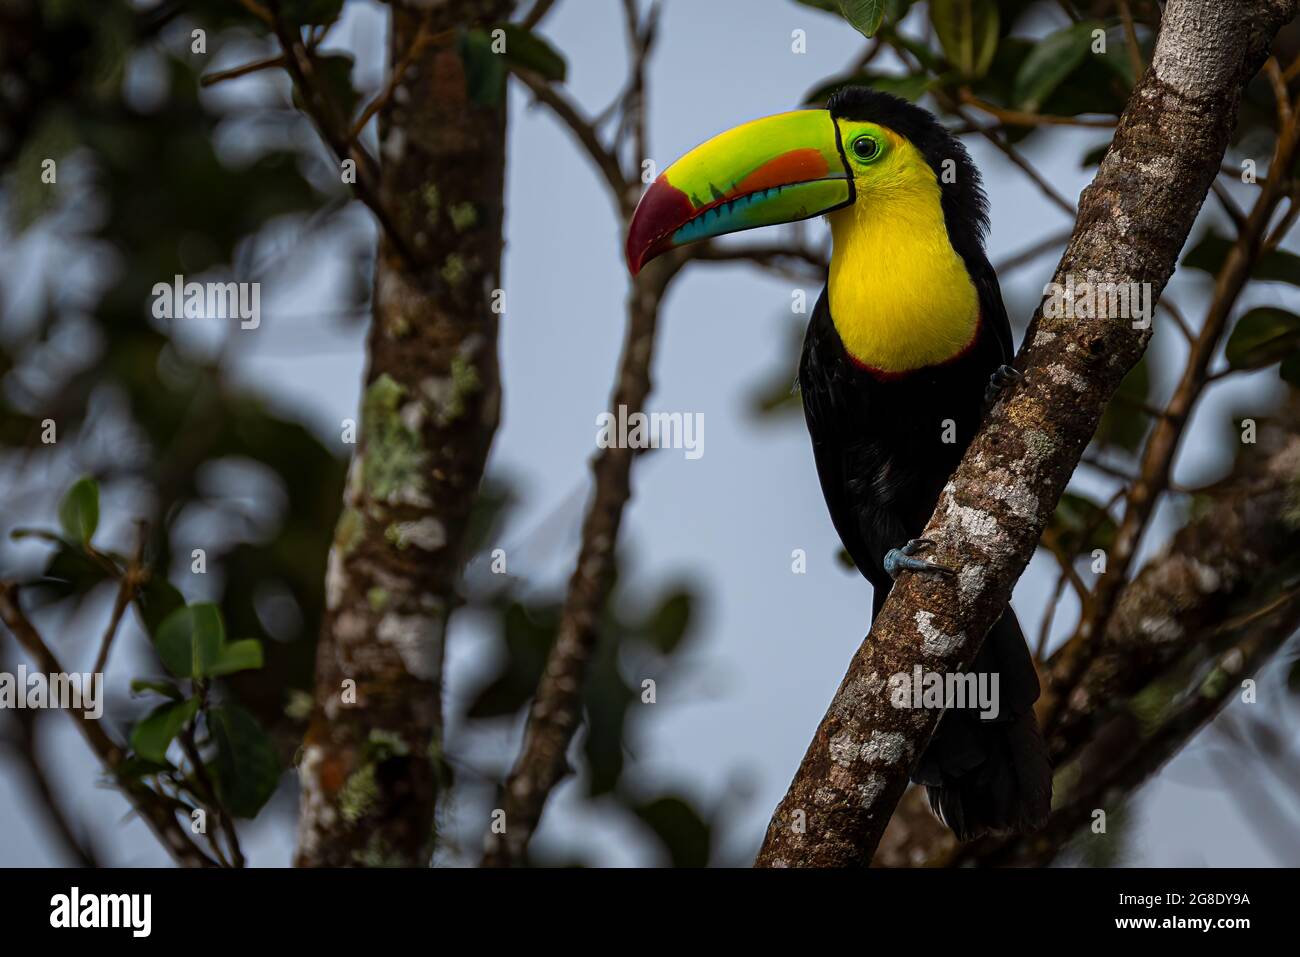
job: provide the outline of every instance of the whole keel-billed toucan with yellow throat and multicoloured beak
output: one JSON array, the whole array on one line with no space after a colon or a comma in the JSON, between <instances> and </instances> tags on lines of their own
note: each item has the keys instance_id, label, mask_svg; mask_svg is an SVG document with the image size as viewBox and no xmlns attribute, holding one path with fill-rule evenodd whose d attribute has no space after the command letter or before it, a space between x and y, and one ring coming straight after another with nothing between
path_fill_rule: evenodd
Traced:
<instances>
[{"instance_id":1,"label":"whole keel-billed toucan with yellow throat and multicoloured beak","mask_svg":"<svg viewBox=\"0 0 1300 957\"><path fill-rule=\"evenodd\" d=\"M628 267L827 216L831 270L803 339L800 393L831 520L879 612L901 572L950 573L919 557L928 542L918 536L987 397L1019 373L1006 365L1011 329L966 148L887 94L846 88L827 107L745 124L668 166L632 218ZM1010 609L970 670L998 675L997 716L949 710L913 778L962 839L1039 827L1050 766L1034 719L1037 675Z\"/></svg>"}]
</instances>

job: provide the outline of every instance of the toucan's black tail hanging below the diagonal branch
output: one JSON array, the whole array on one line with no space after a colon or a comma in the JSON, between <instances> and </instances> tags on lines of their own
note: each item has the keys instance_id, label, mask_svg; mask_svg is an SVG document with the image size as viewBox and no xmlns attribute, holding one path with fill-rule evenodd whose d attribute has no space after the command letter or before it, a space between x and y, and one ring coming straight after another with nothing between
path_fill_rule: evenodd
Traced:
<instances>
[{"instance_id":1,"label":"toucan's black tail hanging below the diagonal branch","mask_svg":"<svg viewBox=\"0 0 1300 957\"><path fill-rule=\"evenodd\" d=\"M998 675L997 716L949 709L913 780L926 785L931 809L963 841L991 831L1035 831L1052 810L1052 763L1034 718L1039 677L1010 609L970 671Z\"/></svg>"}]
</instances>

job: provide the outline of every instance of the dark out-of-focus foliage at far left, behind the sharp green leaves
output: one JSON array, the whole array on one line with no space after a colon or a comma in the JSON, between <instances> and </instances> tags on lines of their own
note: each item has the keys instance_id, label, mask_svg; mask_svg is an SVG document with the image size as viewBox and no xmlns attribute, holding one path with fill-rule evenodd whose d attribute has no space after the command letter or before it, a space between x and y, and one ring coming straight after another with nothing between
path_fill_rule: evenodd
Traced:
<instances>
[{"instance_id":1,"label":"dark out-of-focus foliage at far left, behind the sharp green leaves","mask_svg":"<svg viewBox=\"0 0 1300 957\"><path fill-rule=\"evenodd\" d=\"M321 22L315 18L332 18L341 0L298 7L309 22ZM228 43L248 43L255 21L238 4L200 0L183 10L177 4L138 10L127 3L17 3L3 16L6 226L20 234L36 226L60 230L66 235L62 257L95 250L95 261L110 265L98 298L70 302L58 274L72 264L47 257L39 321L20 326L6 319L0 329L0 372L8 372L0 445L9 450L6 458L21 455L30 468L42 456L57 462L57 451L70 446L108 489L143 489L150 514L118 518L148 521L148 563L164 575L181 544L173 534L179 521L214 511L222 524L240 524L234 503L200 481L208 465L255 465L268 492L283 490L268 495L282 508L266 534L240 541L229 528L220 531L213 536L218 544L205 549L207 577L182 573L177 585L194 594L220 583L212 597L222 620L265 649L265 667L231 685L259 719L281 727L287 755L287 741L299 732L287 727L282 709L294 688L309 687L343 463L338 450L302 424L235 387L220 364L177 348L170 324L150 316L150 302L155 283L177 274L266 278L256 273L263 230L286 221L306 230L308 217L337 204L343 187L321 192L309 179L318 163L315 137L287 103L239 107L238 114L296 124L304 134L296 142L281 146L264 138L254 156L238 161L218 148L220 129L233 113L200 96L198 81ZM207 31L207 53L191 51L195 29ZM142 86L148 87L144 94ZM39 177L43 159L57 164L55 185ZM81 215L68 225L72 202ZM88 342L100 347L84 350L52 381L25 374L40 365L51 339L86 320L95 326ZM125 402L126 421L112 428L143 439L130 455L98 454L108 395ZM39 442L46 417L57 423L57 445ZM90 503L77 510L81 518L61 515L65 529L88 516ZM217 532L213 519L204 521ZM186 567L194 544L183 542L186 553L177 557ZM104 577L68 547L56 550L47 576L47 598L74 602ZM165 586L151 583L143 601L152 607L174 603L160 594ZM292 614L276 615L291 622L290 629L272 627L268 596L294 606ZM151 611L142 614L150 628L157 627Z\"/></svg>"}]
</instances>

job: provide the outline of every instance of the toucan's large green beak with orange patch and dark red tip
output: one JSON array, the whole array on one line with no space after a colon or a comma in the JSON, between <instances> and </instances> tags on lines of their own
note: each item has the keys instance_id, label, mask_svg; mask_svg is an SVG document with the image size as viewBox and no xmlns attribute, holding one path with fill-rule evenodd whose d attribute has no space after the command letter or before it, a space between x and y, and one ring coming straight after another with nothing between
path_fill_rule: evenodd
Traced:
<instances>
[{"instance_id":1,"label":"toucan's large green beak with orange patch and dark red tip","mask_svg":"<svg viewBox=\"0 0 1300 957\"><path fill-rule=\"evenodd\" d=\"M628 269L723 233L794 222L853 202L831 113L800 109L714 137L655 179L628 226Z\"/></svg>"}]
</instances>

